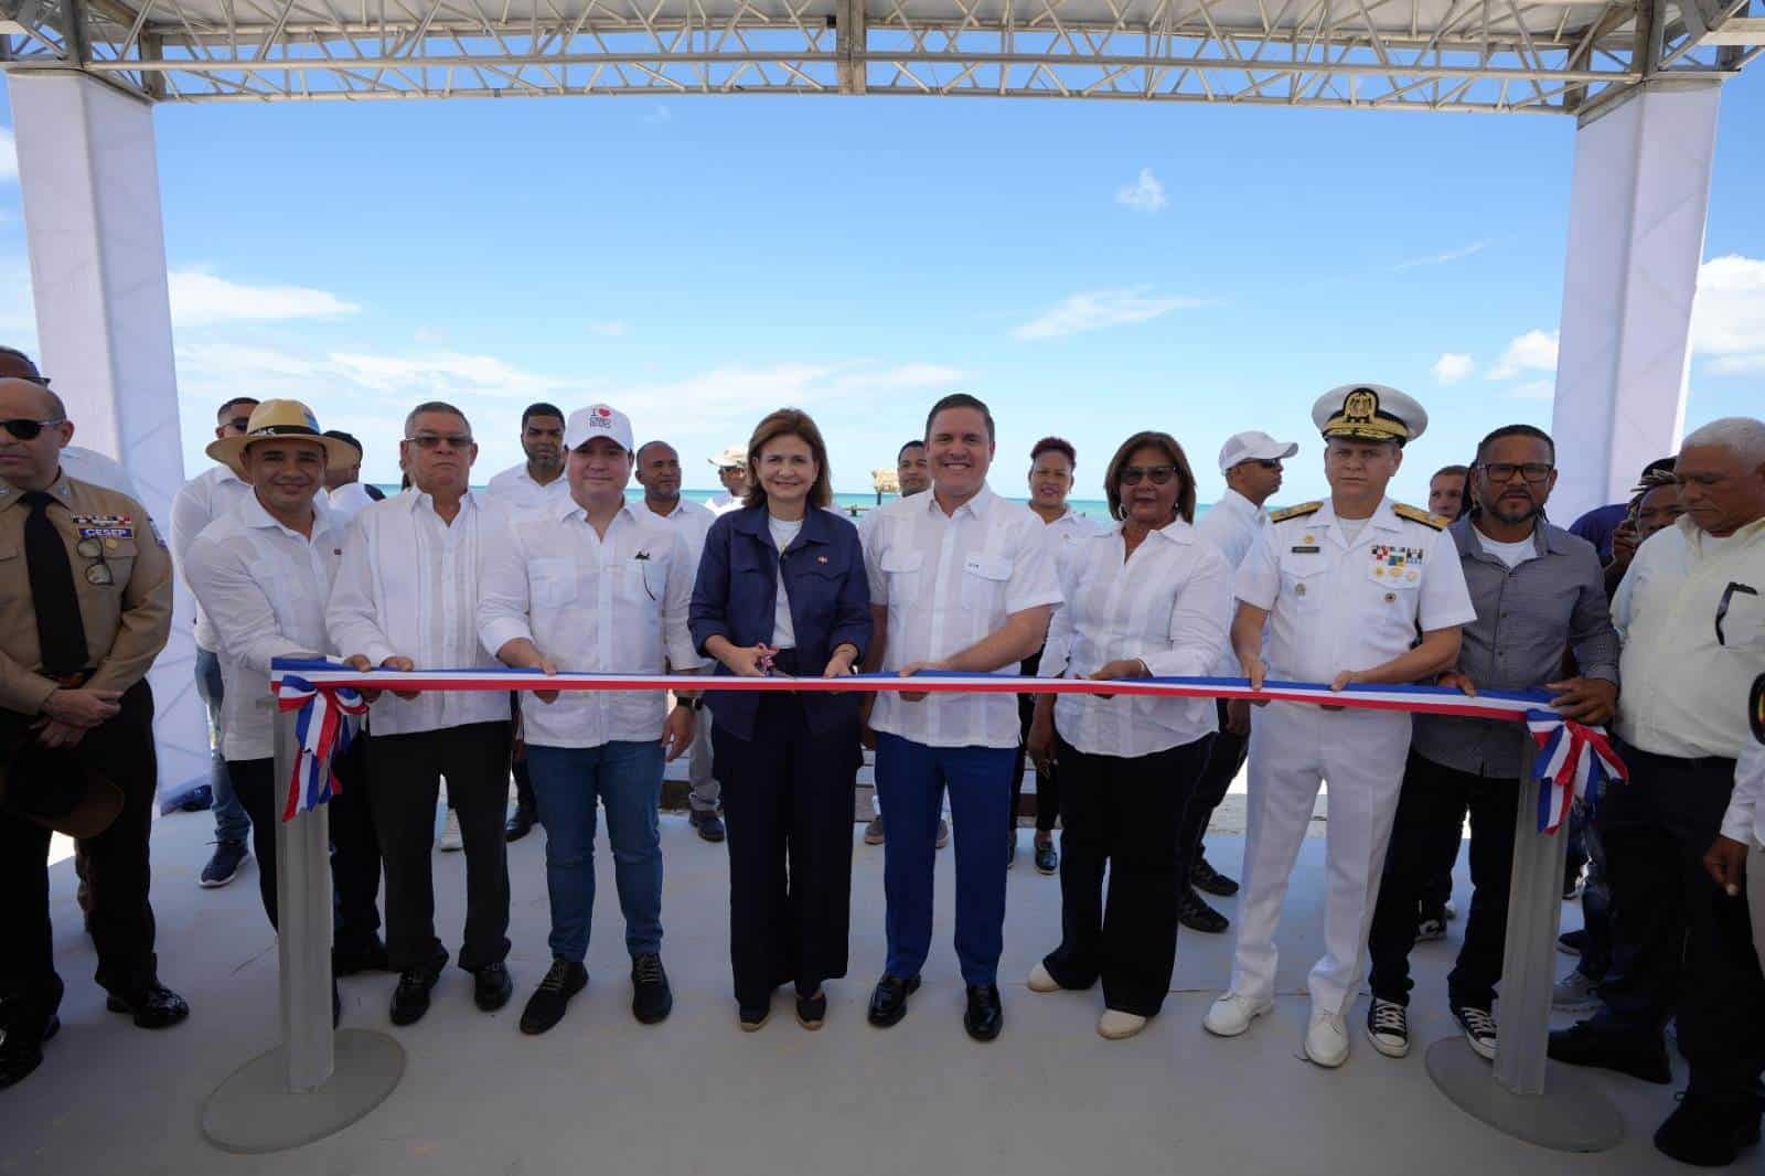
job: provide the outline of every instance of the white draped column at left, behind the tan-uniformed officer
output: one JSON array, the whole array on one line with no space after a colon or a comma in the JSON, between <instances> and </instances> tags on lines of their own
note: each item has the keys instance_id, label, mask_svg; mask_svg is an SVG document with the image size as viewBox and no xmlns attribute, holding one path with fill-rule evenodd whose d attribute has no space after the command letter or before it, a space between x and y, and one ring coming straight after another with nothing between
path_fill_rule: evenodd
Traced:
<instances>
[{"instance_id":1,"label":"white draped column at left, behind the tan-uniformed officer","mask_svg":"<svg viewBox=\"0 0 1765 1176\"><path fill-rule=\"evenodd\" d=\"M37 364L67 403L74 443L116 457L164 533L184 484L184 445L152 106L78 72L14 72L7 90ZM171 643L148 675L161 791L208 779L194 662L180 583Z\"/></svg>"}]
</instances>

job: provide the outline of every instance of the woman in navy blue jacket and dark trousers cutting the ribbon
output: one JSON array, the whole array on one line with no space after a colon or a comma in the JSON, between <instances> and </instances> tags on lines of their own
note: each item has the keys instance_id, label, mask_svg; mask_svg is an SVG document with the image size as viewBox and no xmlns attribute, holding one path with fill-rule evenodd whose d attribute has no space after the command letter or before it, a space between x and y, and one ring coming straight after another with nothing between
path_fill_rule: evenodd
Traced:
<instances>
[{"instance_id":1,"label":"woman in navy blue jacket and dark trousers cutting the ribbon","mask_svg":"<svg viewBox=\"0 0 1765 1176\"><path fill-rule=\"evenodd\" d=\"M858 528L833 501L815 422L782 408L748 441L741 510L711 524L692 592L692 639L718 675L842 678L870 646ZM819 1029L822 980L845 975L852 890L858 694L708 690L729 826L729 961L745 1031L796 984Z\"/></svg>"}]
</instances>

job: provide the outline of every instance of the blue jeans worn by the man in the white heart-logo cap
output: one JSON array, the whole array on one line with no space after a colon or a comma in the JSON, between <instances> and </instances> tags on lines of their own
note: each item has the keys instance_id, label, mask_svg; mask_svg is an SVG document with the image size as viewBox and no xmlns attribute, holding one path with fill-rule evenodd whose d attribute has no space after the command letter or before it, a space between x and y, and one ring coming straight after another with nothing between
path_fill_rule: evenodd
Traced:
<instances>
[{"instance_id":1,"label":"blue jeans worn by the man in the white heart-logo cap","mask_svg":"<svg viewBox=\"0 0 1765 1176\"><path fill-rule=\"evenodd\" d=\"M581 964L595 913L595 800L607 809L612 878L625 913L625 948L662 950L662 745L655 740L600 747L528 745L528 773L545 826L545 890L551 954Z\"/></svg>"}]
</instances>

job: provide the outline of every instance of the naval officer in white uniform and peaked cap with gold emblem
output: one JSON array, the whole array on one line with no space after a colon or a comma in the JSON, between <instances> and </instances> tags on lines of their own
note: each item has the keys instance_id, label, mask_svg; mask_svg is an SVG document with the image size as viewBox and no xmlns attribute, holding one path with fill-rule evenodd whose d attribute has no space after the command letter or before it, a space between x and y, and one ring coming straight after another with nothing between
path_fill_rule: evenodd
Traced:
<instances>
[{"instance_id":1,"label":"naval officer in white uniform and peaked cap with gold emblem","mask_svg":"<svg viewBox=\"0 0 1765 1176\"><path fill-rule=\"evenodd\" d=\"M1253 687L1266 678L1334 689L1431 682L1454 664L1458 627L1477 613L1447 521L1386 498L1428 413L1396 388L1356 383L1327 392L1311 418L1331 496L1269 516L1237 570L1232 646L1244 676ZM1327 779L1326 950L1310 976L1306 1056L1322 1067L1347 1061L1345 1014L1408 747L1403 712L1269 703L1257 717L1232 985L1207 1012L1209 1033L1236 1037L1273 1006L1281 899Z\"/></svg>"}]
</instances>

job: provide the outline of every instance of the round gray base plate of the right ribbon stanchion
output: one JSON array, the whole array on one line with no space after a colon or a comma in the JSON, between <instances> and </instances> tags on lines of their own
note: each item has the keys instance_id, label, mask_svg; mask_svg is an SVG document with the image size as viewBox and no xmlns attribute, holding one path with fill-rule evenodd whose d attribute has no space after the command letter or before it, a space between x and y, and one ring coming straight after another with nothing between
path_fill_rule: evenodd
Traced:
<instances>
[{"instance_id":1,"label":"round gray base plate of the right ribbon stanchion","mask_svg":"<svg viewBox=\"0 0 1765 1176\"><path fill-rule=\"evenodd\" d=\"M1440 1091L1498 1132L1553 1151L1606 1151L1624 1139L1624 1118L1587 1075L1551 1061L1543 1095L1516 1095L1463 1037L1428 1047L1428 1077Z\"/></svg>"}]
</instances>

